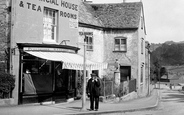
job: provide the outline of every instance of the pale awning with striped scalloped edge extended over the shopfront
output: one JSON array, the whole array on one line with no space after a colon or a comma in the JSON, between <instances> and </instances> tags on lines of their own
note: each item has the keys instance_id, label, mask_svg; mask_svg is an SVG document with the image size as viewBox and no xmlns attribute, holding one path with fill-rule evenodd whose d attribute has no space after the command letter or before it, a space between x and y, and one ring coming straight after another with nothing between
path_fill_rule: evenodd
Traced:
<instances>
[{"instance_id":1,"label":"pale awning with striped scalloped edge extended over the shopfront","mask_svg":"<svg viewBox=\"0 0 184 115\"><path fill-rule=\"evenodd\" d=\"M63 69L83 70L84 57L74 53L25 51L33 56L63 62ZM107 63L96 63L86 59L86 70L106 69Z\"/></svg>"}]
</instances>

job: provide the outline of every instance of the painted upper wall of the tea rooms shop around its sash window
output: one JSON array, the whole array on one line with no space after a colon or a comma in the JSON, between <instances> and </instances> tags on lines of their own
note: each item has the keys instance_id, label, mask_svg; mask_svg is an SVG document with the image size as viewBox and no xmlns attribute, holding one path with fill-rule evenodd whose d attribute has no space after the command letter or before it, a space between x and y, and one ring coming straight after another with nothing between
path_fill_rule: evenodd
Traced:
<instances>
[{"instance_id":1,"label":"painted upper wall of the tea rooms shop around its sash window","mask_svg":"<svg viewBox=\"0 0 184 115\"><path fill-rule=\"evenodd\" d=\"M14 43L47 43L43 39L45 8L57 12L56 40L50 44L68 40L67 45L76 46L79 0L14 0Z\"/></svg>"}]
</instances>

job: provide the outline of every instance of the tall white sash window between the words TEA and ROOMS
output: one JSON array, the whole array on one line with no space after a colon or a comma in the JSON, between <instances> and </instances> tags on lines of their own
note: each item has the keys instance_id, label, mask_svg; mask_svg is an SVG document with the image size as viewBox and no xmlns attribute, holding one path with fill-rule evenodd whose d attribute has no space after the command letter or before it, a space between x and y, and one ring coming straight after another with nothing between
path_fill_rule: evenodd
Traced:
<instances>
[{"instance_id":1,"label":"tall white sash window between the words TEA and ROOMS","mask_svg":"<svg viewBox=\"0 0 184 115\"><path fill-rule=\"evenodd\" d=\"M44 8L43 16L43 34L44 41L56 42L57 32L57 15L58 12L53 9Z\"/></svg>"}]
</instances>

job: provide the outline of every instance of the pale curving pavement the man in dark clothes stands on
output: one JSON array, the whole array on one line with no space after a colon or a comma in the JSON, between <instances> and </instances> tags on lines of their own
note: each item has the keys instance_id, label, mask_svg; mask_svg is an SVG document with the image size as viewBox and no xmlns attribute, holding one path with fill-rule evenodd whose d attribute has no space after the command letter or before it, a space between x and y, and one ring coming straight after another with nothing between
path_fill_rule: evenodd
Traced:
<instances>
[{"instance_id":1,"label":"pale curving pavement the man in dark clothes stands on","mask_svg":"<svg viewBox=\"0 0 184 115\"><path fill-rule=\"evenodd\" d=\"M0 115L98 115L147 110L157 107L160 95L158 89L153 89L151 95L125 102L100 102L98 111L89 111L89 101L82 108L82 100L70 103L44 105L17 105L0 107Z\"/></svg>"}]
</instances>

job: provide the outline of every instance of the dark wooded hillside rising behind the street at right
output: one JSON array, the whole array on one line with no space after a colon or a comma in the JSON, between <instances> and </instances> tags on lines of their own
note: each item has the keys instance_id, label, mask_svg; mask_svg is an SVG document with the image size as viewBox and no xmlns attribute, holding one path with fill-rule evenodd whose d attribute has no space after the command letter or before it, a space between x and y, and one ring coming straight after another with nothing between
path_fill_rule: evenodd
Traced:
<instances>
[{"instance_id":1,"label":"dark wooded hillside rising behind the street at right","mask_svg":"<svg viewBox=\"0 0 184 115\"><path fill-rule=\"evenodd\" d=\"M161 66L184 65L184 43L167 41L163 44L151 44L151 62L159 61Z\"/></svg>"}]
</instances>

